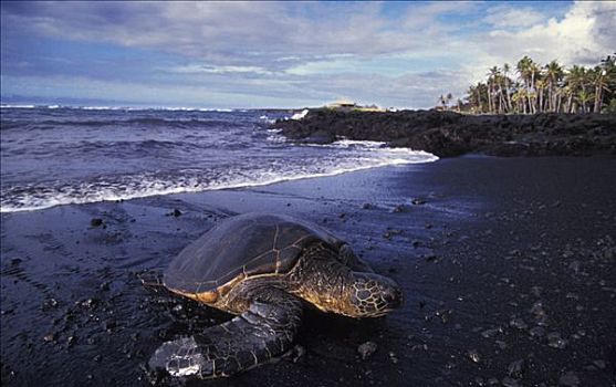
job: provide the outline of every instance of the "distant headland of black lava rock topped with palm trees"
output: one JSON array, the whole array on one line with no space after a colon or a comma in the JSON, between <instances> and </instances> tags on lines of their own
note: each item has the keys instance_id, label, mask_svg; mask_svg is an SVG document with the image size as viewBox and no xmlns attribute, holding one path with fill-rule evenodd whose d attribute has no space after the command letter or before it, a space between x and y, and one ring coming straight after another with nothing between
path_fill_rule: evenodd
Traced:
<instances>
[{"instance_id":1,"label":"distant headland of black lava rock topped with palm trees","mask_svg":"<svg viewBox=\"0 0 616 387\"><path fill-rule=\"evenodd\" d=\"M338 100L274 126L288 138L327 144L337 138L387 142L439 157L616 155L616 54L594 67L540 65L522 57L494 66L464 101L441 95L430 111L396 111Z\"/></svg>"}]
</instances>

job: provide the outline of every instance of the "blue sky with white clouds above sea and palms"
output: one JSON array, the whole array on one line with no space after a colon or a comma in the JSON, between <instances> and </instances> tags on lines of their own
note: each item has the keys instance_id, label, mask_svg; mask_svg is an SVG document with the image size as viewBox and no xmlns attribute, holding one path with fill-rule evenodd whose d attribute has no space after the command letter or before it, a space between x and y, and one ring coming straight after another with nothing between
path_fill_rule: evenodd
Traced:
<instances>
[{"instance_id":1,"label":"blue sky with white clouds above sea and palms","mask_svg":"<svg viewBox=\"0 0 616 387\"><path fill-rule=\"evenodd\" d=\"M1 2L2 103L428 108L530 55L596 65L616 1Z\"/></svg>"}]
</instances>

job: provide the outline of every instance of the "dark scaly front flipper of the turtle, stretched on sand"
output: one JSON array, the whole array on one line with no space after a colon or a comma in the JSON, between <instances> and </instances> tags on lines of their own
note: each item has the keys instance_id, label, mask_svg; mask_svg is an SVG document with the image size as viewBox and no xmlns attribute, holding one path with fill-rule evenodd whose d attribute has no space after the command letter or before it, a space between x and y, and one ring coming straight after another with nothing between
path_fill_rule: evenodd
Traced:
<instances>
[{"instance_id":1,"label":"dark scaly front flipper of the turtle, stretched on sand","mask_svg":"<svg viewBox=\"0 0 616 387\"><path fill-rule=\"evenodd\" d=\"M289 351L301 318L299 299L279 289L262 289L248 311L201 334L163 344L148 365L171 376L230 376Z\"/></svg>"}]
</instances>

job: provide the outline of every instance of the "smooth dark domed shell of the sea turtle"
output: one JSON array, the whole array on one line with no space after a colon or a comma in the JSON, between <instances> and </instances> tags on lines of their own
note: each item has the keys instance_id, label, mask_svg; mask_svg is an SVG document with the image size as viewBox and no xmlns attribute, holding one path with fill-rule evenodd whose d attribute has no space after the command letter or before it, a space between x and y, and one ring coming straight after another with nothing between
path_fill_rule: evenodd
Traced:
<instances>
[{"instance_id":1,"label":"smooth dark domed shell of the sea turtle","mask_svg":"<svg viewBox=\"0 0 616 387\"><path fill-rule=\"evenodd\" d=\"M316 224L291 217L247 213L221 221L170 263L164 283L186 294L212 292L238 279L284 274L314 242L338 250L343 242Z\"/></svg>"}]
</instances>

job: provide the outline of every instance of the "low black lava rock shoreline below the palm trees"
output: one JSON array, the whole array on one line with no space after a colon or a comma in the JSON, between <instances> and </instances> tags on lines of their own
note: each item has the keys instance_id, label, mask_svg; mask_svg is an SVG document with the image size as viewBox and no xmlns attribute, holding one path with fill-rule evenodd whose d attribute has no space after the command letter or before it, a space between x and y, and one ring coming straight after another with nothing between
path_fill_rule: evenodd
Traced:
<instances>
[{"instance_id":1,"label":"low black lava rock shoreline below the palm trees","mask_svg":"<svg viewBox=\"0 0 616 387\"><path fill-rule=\"evenodd\" d=\"M311 109L273 124L288 138L328 144L336 138L386 142L439 157L616 155L616 115L463 115L455 112Z\"/></svg>"}]
</instances>

